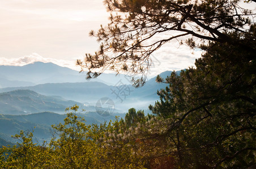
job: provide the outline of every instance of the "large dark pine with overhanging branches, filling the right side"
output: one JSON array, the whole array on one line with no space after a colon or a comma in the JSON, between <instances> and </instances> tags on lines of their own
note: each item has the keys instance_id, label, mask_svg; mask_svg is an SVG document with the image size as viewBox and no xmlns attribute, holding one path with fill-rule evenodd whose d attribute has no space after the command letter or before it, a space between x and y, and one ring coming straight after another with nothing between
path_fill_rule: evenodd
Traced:
<instances>
[{"instance_id":1,"label":"large dark pine with overhanging branches, filling the right side","mask_svg":"<svg viewBox=\"0 0 256 169\"><path fill-rule=\"evenodd\" d=\"M142 73L133 79L138 87L149 56L172 39L185 37L191 48L204 50L196 68L157 78L170 85L150 106L156 117L136 121L130 109L120 131L111 134L111 141L130 145L147 167L170 162L176 168L236 168L255 162L255 14L238 3L105 1L110 24L91 32L102 42L100 50L78 60L89 69L88 78L105 69Z\"/></svg>"}]
</instances>

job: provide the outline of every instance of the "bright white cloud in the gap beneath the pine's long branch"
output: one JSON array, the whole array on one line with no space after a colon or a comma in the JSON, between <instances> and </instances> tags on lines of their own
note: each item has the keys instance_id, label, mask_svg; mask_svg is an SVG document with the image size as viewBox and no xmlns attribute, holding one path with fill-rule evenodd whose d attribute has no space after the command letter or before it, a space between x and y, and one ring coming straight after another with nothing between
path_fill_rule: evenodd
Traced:
<instances>
[{"instance_id":1,"label":"bright white cloud in the gap beneath the pine's long branch","mask_svg":"<svg viewBox=\"0 0 256 169\"><path fill-rule=\"evenodd\" d=\"M169 39L181 34L176 31L169 31L167 33L159 33L144 42L143 45L151 45L162 39ZM171 41L162 45L158 50L151 54L152 66L148 71L148 76L152 77L167 70L181 70L195 66L195 59L202 54L201 50L191 50L187 45L180 45L180 42L185 42L191 35L172 39ZM196 39L200 43L200 39Z\"/></svg>"}]
</instances>

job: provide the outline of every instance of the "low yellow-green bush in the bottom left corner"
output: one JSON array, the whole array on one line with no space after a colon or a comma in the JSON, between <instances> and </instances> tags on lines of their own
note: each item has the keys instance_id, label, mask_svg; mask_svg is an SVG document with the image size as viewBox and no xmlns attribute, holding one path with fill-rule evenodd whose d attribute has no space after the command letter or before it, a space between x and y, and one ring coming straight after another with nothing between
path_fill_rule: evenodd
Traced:
<instances>
[{"instance_id":1,"label":"low yellow-green bush in the bottom left corner","mask_svg":"<svg viewBox=\"0 0 256 169\"><path fill-rule=\"evenodd\" d=\"M48 168L52 152L42 145L33 143L33 131L20 131L13 136L17 145L3 146L0 149L1 168Z\"/></svg>"}]
</instances>

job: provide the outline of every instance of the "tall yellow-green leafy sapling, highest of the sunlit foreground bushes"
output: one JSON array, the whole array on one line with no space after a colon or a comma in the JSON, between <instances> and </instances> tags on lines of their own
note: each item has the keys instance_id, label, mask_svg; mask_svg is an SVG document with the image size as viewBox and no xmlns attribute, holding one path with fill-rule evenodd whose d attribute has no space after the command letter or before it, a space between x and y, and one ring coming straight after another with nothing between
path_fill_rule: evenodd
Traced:
<instances>
[{"instance_id":1,"label":"tall yellow-green leafy sapling, highest of the sunlit foreground bushes","mask_svg":"<svg viewBox=\"0 0 256 169\"><path fill-rule=\"evenodd\" d=\"M88 168L91 165L93 147L87 135L91 126L84 123L84 118L78 117L78 108L78 105L67 108L64 123L52 126L57 134L50 143L56 154L53 167Z\"/></svg>"}]
</instances>

